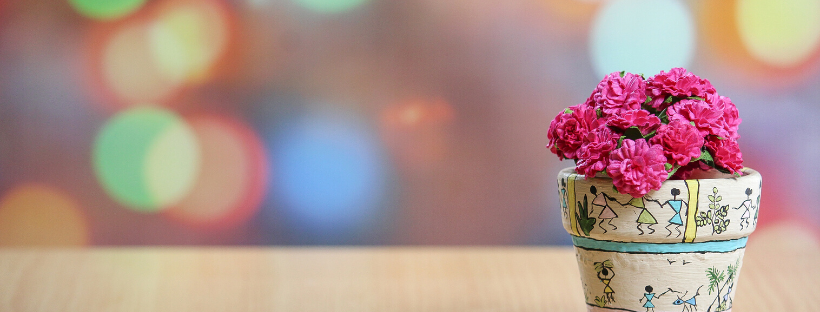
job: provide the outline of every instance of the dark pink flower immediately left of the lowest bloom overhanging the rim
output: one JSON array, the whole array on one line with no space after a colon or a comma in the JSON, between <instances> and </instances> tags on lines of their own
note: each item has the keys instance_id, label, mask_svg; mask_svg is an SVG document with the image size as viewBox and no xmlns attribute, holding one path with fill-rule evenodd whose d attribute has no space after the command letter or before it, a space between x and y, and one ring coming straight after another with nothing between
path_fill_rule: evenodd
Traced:
<instances>
[{"instance_id":1,"label":"dark pink flower immediately left of the lowest bloom overhanging the rim","mask_svg":"<svg viewBox=\"0 0 820 312\"><path fill-rule=\"evenodd\" d=\"M604 171L609 162L609 153L618 146L618 138L618 134L605 126L587 133L584 144L578 150L578 163L575 165L575 171L588 178Z\"/></svg>"}]
</instances>

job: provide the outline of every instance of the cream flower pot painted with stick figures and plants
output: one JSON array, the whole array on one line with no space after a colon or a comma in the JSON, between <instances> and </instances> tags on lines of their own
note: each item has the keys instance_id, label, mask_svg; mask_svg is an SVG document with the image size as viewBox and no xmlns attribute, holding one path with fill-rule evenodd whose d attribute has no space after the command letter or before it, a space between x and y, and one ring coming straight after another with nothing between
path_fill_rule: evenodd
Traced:
<instances>
[{"instance_id":1,"label":"cream flower pot painted with stick figures and plants","mask_svg":"<svg viewBox=\"0 0 820 312\"><path fill-rule=\"evenodd\" d=\"M588 311L730 311L760 174L667 180L641 198L607 177L558 174Z\"/></svg>"}]
</instances>

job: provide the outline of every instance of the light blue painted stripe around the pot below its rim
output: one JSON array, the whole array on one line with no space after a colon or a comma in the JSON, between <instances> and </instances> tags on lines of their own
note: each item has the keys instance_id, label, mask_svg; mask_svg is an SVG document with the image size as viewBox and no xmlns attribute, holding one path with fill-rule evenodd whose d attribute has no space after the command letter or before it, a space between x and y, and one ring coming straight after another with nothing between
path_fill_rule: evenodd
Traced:
<instances>
[{"instance_id":1,"label":"light blue painted stripe around the pot below its rim","mask_svg":"<svg viewBox=\"0 0 820 312\"><path fill-rule=\"evenodd\" d=\"M573 235L572 244L586 249L626 253L729 252L746 247L746 237L697 243L628 243L600 241Z\"/></svg>"}]
</instances>

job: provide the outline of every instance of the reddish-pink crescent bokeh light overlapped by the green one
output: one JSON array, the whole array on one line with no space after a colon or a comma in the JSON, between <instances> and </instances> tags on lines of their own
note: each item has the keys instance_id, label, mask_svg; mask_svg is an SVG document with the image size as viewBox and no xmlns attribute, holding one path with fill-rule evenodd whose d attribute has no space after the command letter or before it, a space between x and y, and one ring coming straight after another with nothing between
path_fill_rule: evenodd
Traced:
<instances>
[{"instance_id":1,"label":"reddish-pink crescent bokeh light overlapped by the green one","mask_svg":"<svg viewBox=\"0 0 820 312\"><path fill-rule=\"evenodd\" d=\"M199 139L202 169L188 195L164 213L194 227L228 228L247 221L258 211L267 184L262 141L233 119L186 119Z\"/></svg>"}]
</instances>

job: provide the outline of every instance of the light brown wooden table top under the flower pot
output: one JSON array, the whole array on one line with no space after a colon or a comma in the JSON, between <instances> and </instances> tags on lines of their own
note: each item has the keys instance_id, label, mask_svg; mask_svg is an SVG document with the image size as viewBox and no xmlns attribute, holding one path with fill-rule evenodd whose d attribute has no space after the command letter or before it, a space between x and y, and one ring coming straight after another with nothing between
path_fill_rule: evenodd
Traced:
<instances>
[{"instance_id":1,"label":"light brown wooden table top under the flower pot","mask_svg":"<svg viewBox=\"0 0 820 312\"><path fill-rule=\"evenodd\" d=\"M820 311L820 247L752 238L734 311ZM569 247L0 250L0 311L585 310Z\"/></svg>"}]
</instances>

